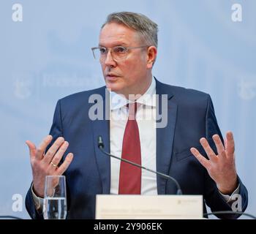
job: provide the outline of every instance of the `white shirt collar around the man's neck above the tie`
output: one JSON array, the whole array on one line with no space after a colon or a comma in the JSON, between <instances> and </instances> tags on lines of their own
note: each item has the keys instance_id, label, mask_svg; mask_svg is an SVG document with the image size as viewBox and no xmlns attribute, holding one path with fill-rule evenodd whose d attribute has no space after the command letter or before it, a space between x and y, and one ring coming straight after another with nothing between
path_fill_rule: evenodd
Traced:
<instances>
[{"instance_id":1,"label":"white shirt collar around the man's neck above the tie","mask_svg":"<svg viewBox=\"0 0 256 234\"><path fill-rule=\"evenodd\" d=\"M142 105L148 105L151 107L156 107L156 99L154 98L156 94L156 80L152 78L151 85L148 87L148 90L143 94L136 102ZM113 91L110 91L110 110L116 110L121 107L124 107L132 100L126 99L124 96L116 94Z\"/></svg>"}]
</instances>

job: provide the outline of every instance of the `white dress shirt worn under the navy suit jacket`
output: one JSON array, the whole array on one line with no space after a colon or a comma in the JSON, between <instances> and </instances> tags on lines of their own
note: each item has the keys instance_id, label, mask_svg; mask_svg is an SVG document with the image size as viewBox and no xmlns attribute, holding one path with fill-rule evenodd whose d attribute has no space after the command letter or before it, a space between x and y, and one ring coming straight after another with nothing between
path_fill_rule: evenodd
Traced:
<instances>
[{"instance_id":1,"label":"white dress shirt worn under the navy suit jacket","mask_svg":"<svg viewBox=\"0 0 256 234\"><path fill-rule=\"evenodd\" d=\"M136 121L140 134L141 165L151 170L157 170L157 130L156 130L156 81L152 79L151 86L145 94L139 97ZM110 154L121 157L124 130L128 119L127 103L132 102L121 95L110 92ZM131 146L132 147L132 146ZM110 194L118 194L120 160L111 158ZM141 194L157 195L157 176L146 170L141 170Z\"/></svg>"}]
</instances>

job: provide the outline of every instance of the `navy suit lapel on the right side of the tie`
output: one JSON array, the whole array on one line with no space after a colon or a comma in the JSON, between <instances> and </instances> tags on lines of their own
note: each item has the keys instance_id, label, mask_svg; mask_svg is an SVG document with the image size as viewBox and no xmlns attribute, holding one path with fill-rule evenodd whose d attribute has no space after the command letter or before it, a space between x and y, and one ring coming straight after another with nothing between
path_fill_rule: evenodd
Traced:
<instances>
[{"instance_id":1,"label":"navy suit lapel on the right side of the tie","mask_svg":"<svg viewBox=\"0 0 256 234\"><path fill-rule=\"evenodd\" d=\"M157 94L159 95L159 103L157 103L157 111L163 113L162 110L162 94L167 94L167 126L157 128L157 171L160 173L169 173L170 159L173 151L173 137L176 126L177 105L173 102L173 94L170 94L170 88L165 84L156 80ZM162 111L161 111L162 110ZM157 193L165 194L167 180L157 176Z\"/></svg>"}]
</instances>

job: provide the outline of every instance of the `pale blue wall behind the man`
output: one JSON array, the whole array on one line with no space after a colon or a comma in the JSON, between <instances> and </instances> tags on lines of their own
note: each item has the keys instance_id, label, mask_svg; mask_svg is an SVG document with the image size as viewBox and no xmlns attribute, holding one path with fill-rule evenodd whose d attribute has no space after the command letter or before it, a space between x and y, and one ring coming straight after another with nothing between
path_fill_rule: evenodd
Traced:
<instances>
[{"instance_id":1,"label":"pale blue wall behind the man","mask_svg":"<svg viewBox=\"0 0 256 234\"><path fill-rule=\"evenodd\" d=\"M256 1L231 0L20 0L23 22L0 1L0 215L23 200L31 183L25 140L48 134L56 101L104 84L91 55L99 27L114 11L148 15L159 25L154 75L164 83L211 94L222 133L232 130L236 166L256 215ZM242 22L231 20L240 3Z\"/></svg>"}]
</instances>

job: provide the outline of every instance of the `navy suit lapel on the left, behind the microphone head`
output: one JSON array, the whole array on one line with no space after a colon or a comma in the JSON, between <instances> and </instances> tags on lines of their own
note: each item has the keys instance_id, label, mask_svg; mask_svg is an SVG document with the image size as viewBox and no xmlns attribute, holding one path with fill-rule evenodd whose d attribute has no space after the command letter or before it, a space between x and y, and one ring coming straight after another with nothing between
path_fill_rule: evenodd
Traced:
<instances>
[{"instance_id":1,"label":"navy suit lapel on the left, behind the microphone head","mask_svg":"<svg viewBox=\"0 0 256 234\"><path fill-rule=\"evenodd\" d=\"M104 88L105 92L105 88ZM93 132L94 132L94 149L96 155L96 162L99 168L99 176L102 181L102 193L110 193L110 157L103 154L102 151L98 148L98 137L102 136L104 142L104 150L110 153L110 121L109 116L109 99L105 97L105 93L102 94L103 100L99 101L99 106L103 106L103 120L94 120L92 121ZM107 115L106 115L107 113Z\"/></svg>"}]
</instances>

